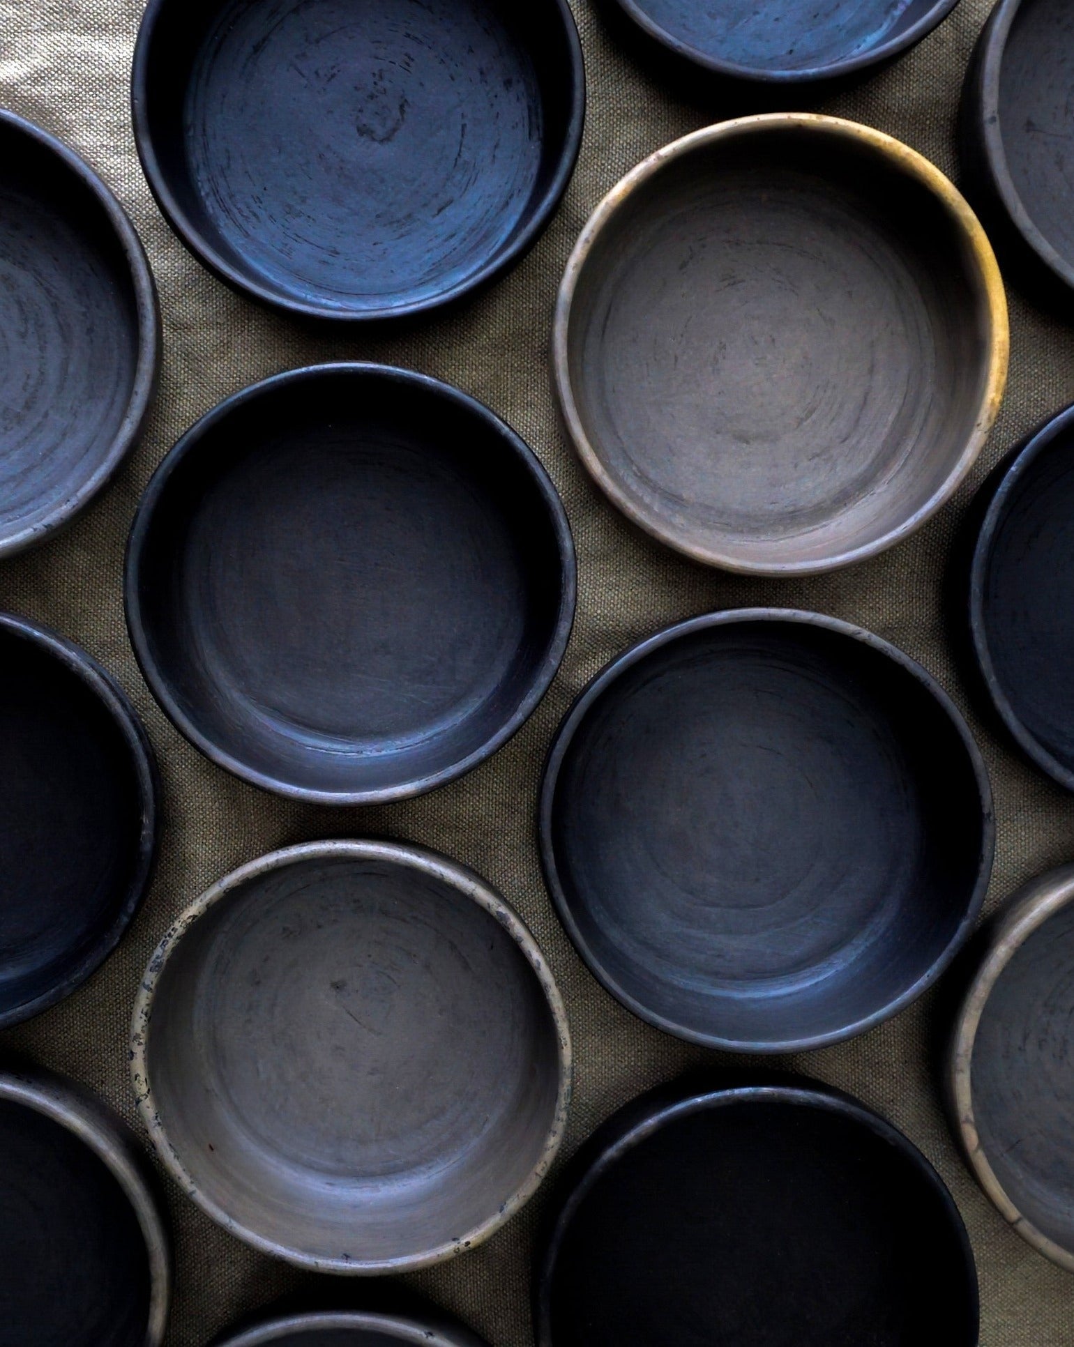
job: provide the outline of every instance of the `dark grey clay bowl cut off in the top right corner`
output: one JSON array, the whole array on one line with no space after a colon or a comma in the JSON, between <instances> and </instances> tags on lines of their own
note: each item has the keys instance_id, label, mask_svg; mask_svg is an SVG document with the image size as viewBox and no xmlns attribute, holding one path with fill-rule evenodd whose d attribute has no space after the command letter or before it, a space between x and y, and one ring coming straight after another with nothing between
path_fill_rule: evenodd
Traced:
<instances>
[{"instance_id":1,"label":"dark grey clay bowl cut off in the top right corner","mask_svg":"<svg viewBox=\"0 0 1074 1347\"><path fill-rule=\"evenodd\" d=\"M1065 0L1000 0L966 74L962 163L1004 263L1054 303L1074 288L1074 193L1063 145L1074 132Z\"/></svg>"}]
</instances>

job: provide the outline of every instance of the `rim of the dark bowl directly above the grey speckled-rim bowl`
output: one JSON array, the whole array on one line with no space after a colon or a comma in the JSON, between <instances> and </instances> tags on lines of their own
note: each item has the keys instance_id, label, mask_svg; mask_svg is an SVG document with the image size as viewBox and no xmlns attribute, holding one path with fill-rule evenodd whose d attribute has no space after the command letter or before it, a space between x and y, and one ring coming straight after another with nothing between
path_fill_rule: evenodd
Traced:
<instances>
[{"instance_id":1,"label":"rim of the dark bowl directly above the grey speckled-rim bowl","mask_svg":"<svg viewBox=\"0 0 1074 1347\"><path fill-rule=\"evenodd\" d=\"M489 735L482 745L466 754L458 762L442 768L438 772L429 772L424 776L402 781L396 785L373 787L361 791L322 791L319 788L296 785L294 781L284 781L279 776L261 772L243 762L234 754L222 749L214 740L203 733L186 714L171 688L171 678L156 661L148 637L148 624L141 607L141 560L144 550L154 528L154 516L164 496L172 473L183 459L197 453L202 438L218 423L226 420L234 411L248 403L259 400L264 395L271 395L280 388L291 388L301 384L317 384L321 379L358 379L376 380L389 384L399 384L404 388L422 389L423 392L451 403L468 416L476 418L486 431L496 436L501 449L515 457L517 463L526 469L535 490L543 501L548 515L548 523L555 537L555 547L559 559L559 609L555 625L551 632L548 649L535 669L526 696L520 700L515 711L504 723ZM513 738L536 710L548 687L552 683L570 641L574 626L577 605L578 566L574 551L574 539L570 523L563 506L563 501L548 475L547 469L530 449L522 435L517 434L505 420L496 415L489 407L472 397L462 389L446 384L429 374L419 374L414 370L400 369L392 365L380 365L360 361L336 361L323 365L306 365L301 369L284 370L272 374L256 384L232 393L221 403L201 416L168 450L164 459L154 473L139 501L131 532L127 539L127 555L124 560L123 601L127 618L127 629L131 636L135 657L143 678L150 687L156 702L160 704L171 723L179 730L185 740L205 754L217 766L224 768L233 776L264 791L282 795L294 800L305 800L315 804L352 806L352 804L384 804L393 800L407 800L418 795L424 795L441 785L455 781L466 773L480 766L484 761L499 752Z\"/></svg>"}]
</instances>

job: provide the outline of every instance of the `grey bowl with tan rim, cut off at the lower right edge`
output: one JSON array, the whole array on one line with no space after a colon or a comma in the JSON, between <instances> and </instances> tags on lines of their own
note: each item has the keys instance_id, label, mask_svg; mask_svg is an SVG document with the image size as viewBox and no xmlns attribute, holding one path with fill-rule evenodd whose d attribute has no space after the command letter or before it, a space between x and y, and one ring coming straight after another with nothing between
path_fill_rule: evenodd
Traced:
<instances>
[{"instance_id":1,"label":"grey bowl with tan rim, cut off at the lower right edge","mask_svg":"<svg viewBox=\"0 0 1074 1347\"><path fill-rule=\"evenodd\" d=\"M988 1196L1040 1253L1074 1272L1074 866L992 923L947 1067L955 1136Z\"/></svg>"}]
</instances>

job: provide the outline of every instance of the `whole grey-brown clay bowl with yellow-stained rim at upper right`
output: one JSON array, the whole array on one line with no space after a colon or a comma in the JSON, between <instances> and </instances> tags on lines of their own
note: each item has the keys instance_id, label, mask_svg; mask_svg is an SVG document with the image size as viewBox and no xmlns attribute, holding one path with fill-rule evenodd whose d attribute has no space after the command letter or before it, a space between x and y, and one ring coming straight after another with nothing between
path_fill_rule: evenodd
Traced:
<instances>
[{"instance_id":1,"label":"whole grey-brown clay bowl with yellow-stained rim at upper right","mask_svg":"<svg viewBox=\"0 0 1074 1347\"><path fill-rule=\"evenodd\" d=\"M760 575L918 528L977 458L1007 358L996 260L951 183L806 113L709 127L628 174L578 240L554 329L567 430L610 500Z\"/></svg>"}]
</instances>

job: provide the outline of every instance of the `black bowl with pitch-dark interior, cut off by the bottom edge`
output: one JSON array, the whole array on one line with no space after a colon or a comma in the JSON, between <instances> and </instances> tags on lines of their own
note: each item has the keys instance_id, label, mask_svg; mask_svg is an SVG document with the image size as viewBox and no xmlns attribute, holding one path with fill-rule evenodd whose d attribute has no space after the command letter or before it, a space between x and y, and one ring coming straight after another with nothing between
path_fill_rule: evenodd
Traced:
<instances>
[{"instance_id":1,"label":"black bowl with pitch-dark interior, cut off by the bottom edge","mask_svg":"<svg viewBox=\"0 0 1074 1347\"><path fill-rule=\"evenodd\" d=\"M569 1179L538 1347L977 1347L977 1270L928 1161L813 1082L671 1086Z\"/></svg>"}]
</instances>

